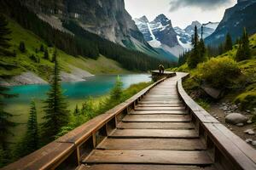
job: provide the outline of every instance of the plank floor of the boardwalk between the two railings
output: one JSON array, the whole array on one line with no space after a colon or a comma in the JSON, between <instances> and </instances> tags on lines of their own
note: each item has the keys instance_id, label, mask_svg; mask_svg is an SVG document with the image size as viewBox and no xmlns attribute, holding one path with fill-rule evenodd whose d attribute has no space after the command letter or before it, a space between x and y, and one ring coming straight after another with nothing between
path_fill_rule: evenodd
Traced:
<instances>
[{"instance_id":1,"label":"plank floor of the boardwalk between the two railings","mask_svg":"<svg viewBox=\"0 0 256 170\"><path fill-rule=\"evenodd\" d=\"M213 169L206 144L177 93L179 78L150 90L80 169Z\"/></svg>"}]
</instances>

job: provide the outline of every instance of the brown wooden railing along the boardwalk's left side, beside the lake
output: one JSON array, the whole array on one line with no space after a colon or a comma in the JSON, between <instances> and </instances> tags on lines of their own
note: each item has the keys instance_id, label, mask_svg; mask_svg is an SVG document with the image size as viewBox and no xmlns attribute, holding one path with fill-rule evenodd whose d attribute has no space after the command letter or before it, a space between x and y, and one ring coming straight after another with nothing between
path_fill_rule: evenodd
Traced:
<instances>
[{"instance_id":1,"label":"brown wooden railing along the boardwalk's left side, beside the lake","mask_svg":"<svg viewBox=\"0 0 256 170\"><path fill-rule=\"evenodd\" d=\"M175 76L176 74L172 74ZM84 125L75 128L70 133L45 145L40 150L36 150L29 156L21 158L3 169L75 169L79 167L80 160L90 154L102 139L106 138L117 127L121 119L134 109L151 88L154 88L166 78L162 78L148 88L117 105L112 110L96 116Z\"/></svg>"}]
</instances>

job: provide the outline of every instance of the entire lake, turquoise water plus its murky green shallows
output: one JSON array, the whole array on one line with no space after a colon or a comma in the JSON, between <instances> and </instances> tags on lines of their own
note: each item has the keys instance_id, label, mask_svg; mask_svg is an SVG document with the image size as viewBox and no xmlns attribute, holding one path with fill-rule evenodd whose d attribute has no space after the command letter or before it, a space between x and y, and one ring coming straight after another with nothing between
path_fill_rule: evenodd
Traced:
<instances>
[{"instance_id":1,"label":"entire lake, turquoise water plus its murky green shallows","mask_svg":"<svg viewBox=\"0 0 256 170\"><path fill-rule=\"evenodd\" d=\"M120 75L123 82L123 88L128 88L131 84L138 82L150 82L149 74L129 74ZM75 105L81 106L88 97L98 97L108 94L116 81L117 75L102 75L95 77L87 77L84 82L63 82L61 87L67 96L68 109L73 111ZM30 102L35 99L38 109L38 122L42 122L43 104L49 85L24 85L10 87L10 94L19 94L19 97L6 100L6 111L16 116L12 117L13 122L18 122L18 126L11 127L9 130L15 135L9 135L10 142L17 142L26 132L26 122L30 110Z\"/></svg>"}]
</instances>

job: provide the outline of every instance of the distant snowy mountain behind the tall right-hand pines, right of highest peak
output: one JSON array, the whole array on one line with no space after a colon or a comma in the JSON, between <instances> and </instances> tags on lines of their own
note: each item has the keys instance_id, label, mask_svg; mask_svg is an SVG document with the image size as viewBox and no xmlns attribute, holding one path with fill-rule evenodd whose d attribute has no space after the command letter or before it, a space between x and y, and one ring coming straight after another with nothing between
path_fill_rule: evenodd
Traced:
<instances>
[{"instance_id":1,"label":"distant snowy mountain behind the tall right-hand pines, right of highest peak","mask_svg":"<svg viewBox=\"0 0 256 170\"><path fill-rule=\"evenodd\" d=\"M191 23L191 25L187 26L185 29L181 29L179 27L174 27L174 30L177 33L177 41L183 48L189 49L192 48L191 39L195 32L195 26L197 26L198 35L201 37L201 26L203 26L203 35L202 37L205 39L212 35L212 33L218 27L218 22L208 22L206 24L201 24L199 21L195 20Z\"/></svg>"}]
</instances>

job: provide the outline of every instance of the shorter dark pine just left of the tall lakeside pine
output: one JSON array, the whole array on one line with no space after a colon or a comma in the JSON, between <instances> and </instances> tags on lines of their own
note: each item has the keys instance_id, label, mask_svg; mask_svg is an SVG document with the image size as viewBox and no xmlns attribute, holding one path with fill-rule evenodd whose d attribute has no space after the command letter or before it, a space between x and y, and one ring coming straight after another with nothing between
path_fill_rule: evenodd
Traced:
<instances>
[{"instance_id":1,"label":"shorter dark pine just left of the tall lakeside pine","mask_svg":"<svg viewBox=\"0 0 256 170\"><path fill-rule=\"evenodd\" d=\"M38 135L38 114L36 109L35 101L32 100L29 118L27 121L26 135L22 140L21 144L18 145L18 155L26 156L38 149L39 146L39 135Z\"/></svg>"}]
</instances>

